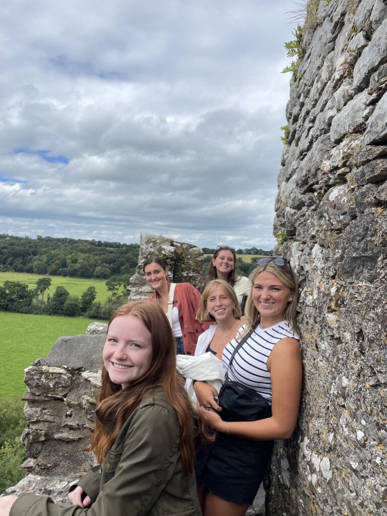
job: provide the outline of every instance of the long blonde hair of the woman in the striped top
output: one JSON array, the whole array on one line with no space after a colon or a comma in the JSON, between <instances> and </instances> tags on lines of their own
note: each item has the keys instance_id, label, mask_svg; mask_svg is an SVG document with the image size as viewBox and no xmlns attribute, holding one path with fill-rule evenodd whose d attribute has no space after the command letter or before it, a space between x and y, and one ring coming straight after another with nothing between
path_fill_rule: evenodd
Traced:
<instances>
[{"instance_id":1,"label":"long blonde hair of the woman in the striped top","mask_svg":"<svg viewBox=\"0 0 387 516\"><path fill-rule=\"evenodd\" d=\"M284 285L286 285L288 288L290 288L293 291L292 301L289 301L287 303L285 313L284 313L284 320L288 322L291 329L297 333L297 335L301 338L301 332L296 322L296 314L297 314L297 303L298 303L298 278L296 273L291 268L290 264L285 265L284 267L280 267L279 265L276 265L275 263L268 262L263 265L259 265L256 267L250 274L250 281L251 281L251 288L249 295L247 297L246 301L246 309L245 309L245 315L246 315L246 331L251 332L253 328L255 328L257 325L259 325L259 322L261 320L261 315L259 311L256 309L252 293L254 289L254 281L255 278L263 271L271 272L273 275L275 275Z\"/></svg>"}]
</instances>

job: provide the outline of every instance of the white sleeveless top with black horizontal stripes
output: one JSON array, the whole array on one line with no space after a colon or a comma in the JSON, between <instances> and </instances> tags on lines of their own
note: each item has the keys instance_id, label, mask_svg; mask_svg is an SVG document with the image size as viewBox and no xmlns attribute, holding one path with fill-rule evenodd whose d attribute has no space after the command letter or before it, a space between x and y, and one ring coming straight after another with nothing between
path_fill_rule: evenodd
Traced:
<instances>
[{"instance_id":1,"label":"white sleeveless top with black horizontal stripes","mask_svg":"<svg viewBox=\"0 0 387 516\"><path fill-rule=\"evenodd\" d=\"M240 332L243 330L244 327ZM291 330L286 321L278 322L266 329L257 327L233 358L228 370L229 379L254 389L271 402L271 379L266 366L267 359L277 342L285 337L299 340L297 333ZM237 335L225 346L222 358L226 367L239 341Z\"/></svg>"}]
</instances>

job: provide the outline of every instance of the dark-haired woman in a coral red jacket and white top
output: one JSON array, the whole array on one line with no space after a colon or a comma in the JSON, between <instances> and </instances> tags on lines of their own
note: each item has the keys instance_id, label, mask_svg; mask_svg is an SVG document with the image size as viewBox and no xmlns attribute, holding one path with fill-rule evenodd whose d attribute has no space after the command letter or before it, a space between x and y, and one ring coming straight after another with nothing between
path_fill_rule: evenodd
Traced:
<instances>
[{"instance_id":1,"label":"dark-haired woman in a coral red jacket and white top","mask_svg":"<svg viewBox=\"0 0 387 516\"><path fill-rule=\"evenodd\" d=\"M145 278L154 289L149 301L157 303L168 315L173 335L176 338L178 354L195 354L198 337L209 327L208 322L195 318L199 309L201 294L189 283L170 283L168 266L161 258L152 256L142 266ZM170 300L171 287L174 286L173 299Z\"/></svg>"}]
</instances>

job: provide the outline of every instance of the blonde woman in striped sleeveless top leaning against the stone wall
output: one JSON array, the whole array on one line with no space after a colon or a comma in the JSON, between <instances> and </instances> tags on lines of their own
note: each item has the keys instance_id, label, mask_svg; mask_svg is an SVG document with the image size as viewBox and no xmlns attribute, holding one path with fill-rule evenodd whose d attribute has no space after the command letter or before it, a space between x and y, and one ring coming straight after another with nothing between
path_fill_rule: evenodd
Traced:
<instances>
[{"instance_id":1,"label":"blonde woman in striped sleeveless top leaning against the stone wall","mask_svg":"<svg viewBox=\"0 0 387 516\"><path fill-rule=\"evenodd\" d=\"M252 390L262 411L246 421L240 417L240 402L235 401L235 407L226 412L222 392L222 409L213 404L210 410L202 408L218 431L214 445L196 465L204 516L245 514L266 473L273 440L291 437L297 422L302 382L300 331L295 320L297 277L285 258L263 257L256 264L250 275L246 327L225 346L223 363L231 383L245 393ZM205 388L203 383L200 395L210 399L211 386Z\"/></svg>"}]
</instances>

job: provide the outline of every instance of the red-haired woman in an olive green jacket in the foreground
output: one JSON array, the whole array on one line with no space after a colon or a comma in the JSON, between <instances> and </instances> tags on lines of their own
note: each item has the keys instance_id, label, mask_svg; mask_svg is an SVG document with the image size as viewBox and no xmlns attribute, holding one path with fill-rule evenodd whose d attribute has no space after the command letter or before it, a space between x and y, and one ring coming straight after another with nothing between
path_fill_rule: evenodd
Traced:
<instances>
[{"instance_id":1,"label":"red-haired woman in an olive green jacket in the foreground","mask_svg":"<svg viewBox=\"0 0 387 516\"><path fill-rule=\"evenodd\" d=\"M6 496L0 498L0 515L200 516L193 474L194 416L176 373L167 317L154 303L124 304L110 319L103 349L102 388L89 447L100 465L72 486L72 507L42 495Z\"/></svg>"}]
</instances>

